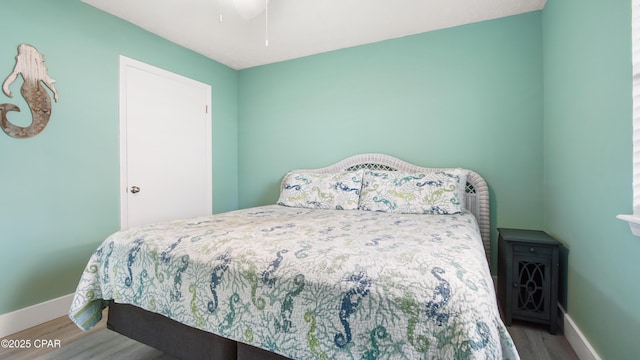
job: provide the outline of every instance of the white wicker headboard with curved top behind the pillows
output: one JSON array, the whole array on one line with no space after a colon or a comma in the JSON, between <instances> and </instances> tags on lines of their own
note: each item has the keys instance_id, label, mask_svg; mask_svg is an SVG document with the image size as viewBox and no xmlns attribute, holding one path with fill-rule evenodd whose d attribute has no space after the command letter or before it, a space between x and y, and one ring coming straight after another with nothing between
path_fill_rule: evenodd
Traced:
<instances>
[{"instance_id":1,"label":"white wicker headboard with curved top behind the pillows","mask_svg":"<svg viewBox=\"0 0 640 360\"><path fill-rule=\"evenodd\" d=\"M361 154L348 157L333 165L318 169L294 170L295 172L336 173L360 169L384 171L433 171L438 168L426 168L410 164L393 156L384 154ZM468 170L467 188L465 191L465 208L475 215L480 228L480 236L484 244L487 262L491 265L491 230L489 217L489 187L484 179L475 171Z\"/></svg>"}]
</instances>

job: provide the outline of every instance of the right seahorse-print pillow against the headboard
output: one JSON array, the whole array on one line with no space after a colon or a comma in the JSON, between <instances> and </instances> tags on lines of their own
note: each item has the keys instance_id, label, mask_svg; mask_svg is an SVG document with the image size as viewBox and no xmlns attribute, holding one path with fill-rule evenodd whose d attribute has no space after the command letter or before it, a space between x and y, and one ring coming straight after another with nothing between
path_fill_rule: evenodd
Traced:
<instances>
[{"instance_id":1,"label":"right seahorse-print pillow against the headboard","mask_svg":"<svg viewBox=\"0 0 640 360\"><path fill-rule=\"evenodd\" d=\"M467 171L409 173L365 171L361 210L408 214L459 214L464 211Z\"/></svg>"}]
</instances>

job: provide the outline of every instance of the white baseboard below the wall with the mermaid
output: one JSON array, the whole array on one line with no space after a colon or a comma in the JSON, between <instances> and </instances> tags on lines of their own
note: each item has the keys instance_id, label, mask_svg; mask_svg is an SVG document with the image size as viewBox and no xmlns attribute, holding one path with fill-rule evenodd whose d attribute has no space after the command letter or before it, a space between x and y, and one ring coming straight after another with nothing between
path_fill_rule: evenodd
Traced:
<instances>
[{"instance_id":1,"label":"white baseboard below the wall with the mermaid","mask_svg":"<svg viewBox=\"0 0 640 360\"><path fill-rule=\"evenodd\" d=\"M73 301L73 295L61 296L0 315L0 338L67 315Z\"/></svg>"}]
</instances>

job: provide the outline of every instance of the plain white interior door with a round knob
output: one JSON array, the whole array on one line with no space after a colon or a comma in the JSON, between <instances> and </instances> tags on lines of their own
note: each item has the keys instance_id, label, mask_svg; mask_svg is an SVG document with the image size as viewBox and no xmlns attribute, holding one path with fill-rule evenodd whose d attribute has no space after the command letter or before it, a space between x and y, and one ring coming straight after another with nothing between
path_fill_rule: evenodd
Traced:
<instances>
[{"instance_id":1,"label":"plain white interior door with a round knob","mask_svg":"<svg viewBox=\"0 0 640 360\"><path fill-rule=\"evenodd\" d=\"M120 57L122 229L212 212L211 87Z\"/></svg>"}]
</instances>

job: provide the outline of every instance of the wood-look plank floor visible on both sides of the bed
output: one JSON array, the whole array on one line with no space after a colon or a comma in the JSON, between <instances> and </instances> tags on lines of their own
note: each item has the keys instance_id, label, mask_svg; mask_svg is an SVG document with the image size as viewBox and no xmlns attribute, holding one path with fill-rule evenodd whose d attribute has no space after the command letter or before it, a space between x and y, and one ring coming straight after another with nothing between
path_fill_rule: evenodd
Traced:
<instances>
[{"instance_id":1,"label":"wood-look plank floor visible on both sides of the bed","mask_svg":"<svg viewBox=\"0 0 640 360\"><path fill-rule=\"evenodd\" d=\"M106 315L106 314L105 314ZM106 316L105 316L106 318ZM578 360L562 334L551 335L547 327L514 321L509 328L522 360ZM29 340L29 349L0 348L0 359L11 360L170 360L160 351L108 330L103 320L83 332L69 318L61 317L25 331L7 336L8 340ZM42 347L37 340L53 345ZM56 347L56 340L60 346ZM36 344L40 348L36 348Z\"/></svg>"}]
</instances>

